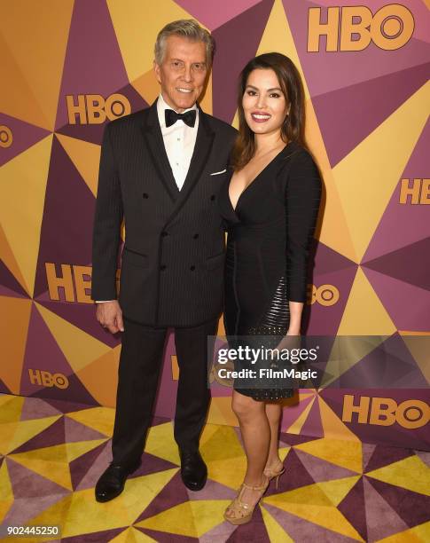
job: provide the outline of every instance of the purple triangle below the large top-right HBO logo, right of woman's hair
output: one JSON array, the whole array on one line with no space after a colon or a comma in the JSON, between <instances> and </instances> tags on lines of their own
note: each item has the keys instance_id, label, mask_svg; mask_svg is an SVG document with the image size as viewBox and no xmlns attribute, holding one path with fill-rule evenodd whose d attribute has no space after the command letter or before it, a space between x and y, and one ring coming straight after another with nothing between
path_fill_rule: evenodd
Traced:
<instances>
[{"instance_id":1,"label":"purple triangle below the large top-right HBO logo, right of woman's hair","mask_svg":"<svg viewBox=\"0 0 430 543\"><path fill-rule=\"evenodd\" d=\"M313 98L332 167L418 91L429 70L427 62Z\"/></svg>"}]
</instances>

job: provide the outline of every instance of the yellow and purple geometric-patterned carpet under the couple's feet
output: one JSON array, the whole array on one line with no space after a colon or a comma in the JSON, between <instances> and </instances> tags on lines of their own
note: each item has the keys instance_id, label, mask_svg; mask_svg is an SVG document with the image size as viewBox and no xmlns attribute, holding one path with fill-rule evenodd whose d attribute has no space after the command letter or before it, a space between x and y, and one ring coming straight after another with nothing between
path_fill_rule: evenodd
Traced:
<instances>
[{"instance_id":1,"label":"yellow and purple geometric-patterned carpet under the couple's feet","mask_svg":"<svg viewBox=\"0 0 430 543\"><path fill-rule=\"evenodd\" d=\"M232 526L223 511L246 468L238 429L207 424L200 442L207 484L192 492L181 480L172 421L155 417L142 466L121 496L99 504L94 486L112 460L112 408L8 395L0 406L5 524L57 525L69 543L430 539L427 452L281 433L278 489L270 483L252 523Z\"/></svg>"}]
</instances>

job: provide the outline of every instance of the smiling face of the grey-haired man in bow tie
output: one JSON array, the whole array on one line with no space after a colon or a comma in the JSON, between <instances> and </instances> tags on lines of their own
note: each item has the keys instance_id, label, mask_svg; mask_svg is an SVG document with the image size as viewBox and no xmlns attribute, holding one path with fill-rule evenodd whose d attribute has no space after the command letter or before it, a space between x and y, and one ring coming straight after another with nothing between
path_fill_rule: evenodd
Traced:
<instances>
[{"instance_id":1,"label":"smiling face of the grey-haired man in bow tie","mask_svg":"<svg viewBox=\"0 0 430 543\"><path fill-rule=\"evenodd\" d=\"M169 35L161 64L154 60L155 75L168 106L178 113L192 107L207 76L206 46L179 35Z\"/></svg>"}]
</instances>

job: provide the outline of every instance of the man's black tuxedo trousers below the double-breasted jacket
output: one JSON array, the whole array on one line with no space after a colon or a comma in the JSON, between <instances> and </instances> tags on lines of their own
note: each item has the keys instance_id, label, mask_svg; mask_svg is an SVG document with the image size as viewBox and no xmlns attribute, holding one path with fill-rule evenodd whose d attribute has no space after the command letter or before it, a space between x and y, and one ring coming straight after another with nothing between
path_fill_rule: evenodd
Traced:
<instances>
[{"instance_id":1,"label":"man's black tuxedo trousers below the double-breasted jacket","mask_svg":"<svg viewBox=\"0 0 430 543\"><path fill-rule=\"evenodd\" d=\"M182 449L199 448L210 402L207 360L213 357L214 342L208 352L207 336L215 335L217 327L215 319L197 327L175 329L179 381L174 435ZM167 327L146 327L124 319L112 438L114 462L131 465L142 456L167 334Z\"/></svg>"}]
</instances>

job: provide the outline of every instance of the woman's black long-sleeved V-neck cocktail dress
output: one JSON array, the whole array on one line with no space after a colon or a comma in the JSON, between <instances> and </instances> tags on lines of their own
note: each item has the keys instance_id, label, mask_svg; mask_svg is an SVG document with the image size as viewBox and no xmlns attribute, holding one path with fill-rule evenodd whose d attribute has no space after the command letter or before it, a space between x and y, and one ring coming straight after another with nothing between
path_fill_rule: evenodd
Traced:
<instances>
[{"instance_id":1,"label":"woman's black long-sleeved V-neck cocktail dress","mask_svg":"<svg viewBox=\"0 0 430 543\"><path fill-rule=\"evenodd\" d=\"M315 161L290 142L231 205L228 171L218 205L228 232L224 269L224 327L230 346L275 348L289 327L288 301L306 302L309 248L317 223L322 182ZM270 340L270 336L272 339ZM241 339L243 338L243 339ZM236 367L243 367L235 362ZM283 384L258 388L236 379L234 388L260 400L291 397ZM244 384L245 383L245 384Z\"/></svg>"}]
</instances>

